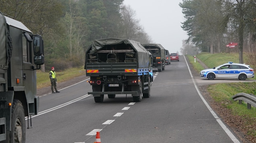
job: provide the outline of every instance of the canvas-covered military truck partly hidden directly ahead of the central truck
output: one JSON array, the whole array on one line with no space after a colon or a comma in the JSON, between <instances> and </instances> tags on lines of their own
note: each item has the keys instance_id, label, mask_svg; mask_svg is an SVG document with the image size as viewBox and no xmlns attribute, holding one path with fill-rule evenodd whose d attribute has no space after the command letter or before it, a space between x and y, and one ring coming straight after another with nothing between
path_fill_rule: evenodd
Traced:
<instances>
[{"instance_id":1,"label":"canvas-covered military truck partly hidden directly ahead of the central truck","mask_svg":"<svg viewBox=\"0 0 256 143\"><path fill-rule=\"evenodd\" d=\"M165 68L165 48L161 44L142 44L153 56L153 68L159 72Z\"/></svg>"}]
</instances>

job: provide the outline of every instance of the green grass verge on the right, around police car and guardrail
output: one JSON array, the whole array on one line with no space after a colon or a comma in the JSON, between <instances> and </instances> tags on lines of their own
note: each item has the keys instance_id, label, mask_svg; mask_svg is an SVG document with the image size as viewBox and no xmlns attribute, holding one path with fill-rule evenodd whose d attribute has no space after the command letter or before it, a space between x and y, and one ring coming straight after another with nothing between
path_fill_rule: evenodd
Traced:
<instances>
[{"instance_id":1,"label":"green grass verge on the right, around police car and guardrail","mask_svg":"<svg viewBox=\"0 0 256 143\"><path fill-rule=\"evenodd\" d=\"M200 72L203 67L200 63L194 63L194 56L188 56L189 62L193 64L194 69ZM208 67L219 66L221 64L231 62L239 63L238 54L209 54L202 52L196 55L204 64ZM244 55L246 61L246 55ZM201 67L200 67L201 66ZM253 67L252 67L253 68ZM255 79L252 78L252 79ZM246 126L247 135L256 138L256 108L252 106L251 109L247 109L247 103L244 101L241 105L238 104L238 101L233 101L232 96L237 93L247 93L256 95L256 82L247 82L247 83L219 83L210 85L207 87L207 91L214 99L215 102L220 103L223 108L230 109L234 116L239 116L243 119L243 125ZM237 123L238 124L238 123Z\"/></svg>"}]
</instances>

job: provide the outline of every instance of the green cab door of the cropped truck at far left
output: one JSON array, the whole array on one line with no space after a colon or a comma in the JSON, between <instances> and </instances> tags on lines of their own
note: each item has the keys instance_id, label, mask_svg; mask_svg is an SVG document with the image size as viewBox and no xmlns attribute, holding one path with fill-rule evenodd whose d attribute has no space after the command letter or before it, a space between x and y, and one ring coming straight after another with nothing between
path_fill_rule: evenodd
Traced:
<instances>
[{"instance_id":1,"label":"green cab door of the cropped truck at far left","mask_svg":"<svg viewBox=\"0 0 256 143\"><path fill-rule=\"evenodd\" d=\"M35 70L32 69L32 42L28 42L25 36L22 36L22 50L23 50L23 62L22 62L22 80L23 87L25 87L25 94L29 103L34 102L34 96L36 95L36 76Z\"/></svg>"}]
</instances>

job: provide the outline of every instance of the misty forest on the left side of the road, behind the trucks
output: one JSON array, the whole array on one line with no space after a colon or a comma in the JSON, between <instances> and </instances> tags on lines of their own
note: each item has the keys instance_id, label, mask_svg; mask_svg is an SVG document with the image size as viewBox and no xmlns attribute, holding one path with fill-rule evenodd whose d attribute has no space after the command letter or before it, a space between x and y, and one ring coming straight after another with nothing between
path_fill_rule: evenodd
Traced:
<instances>
[{"instance_id":1,"label":"misty forest on the left side of the road, behind the trucks","mask_svg":"<svg viewBox=\"0 0 256 143\"><path fill-rule=\"evenodd\" d=\"M0 11L44 38L45 67L84 64L95 39L127 38L150 43L135 11L123 0L0 0Z\"/></svg>"}]
</instances>

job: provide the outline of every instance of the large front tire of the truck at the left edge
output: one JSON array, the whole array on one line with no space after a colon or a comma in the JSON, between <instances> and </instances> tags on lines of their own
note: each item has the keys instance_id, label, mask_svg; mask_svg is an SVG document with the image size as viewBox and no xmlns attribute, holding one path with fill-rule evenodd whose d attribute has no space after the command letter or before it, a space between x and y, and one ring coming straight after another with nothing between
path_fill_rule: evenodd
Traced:
<instances>
[{"instance_id":1,"label":"large front tire of the truck at the left edge","mask_svg":"<svg viewBox=\"0 0 256 143\"><path fill-rule=\"evenodd\" d=\"M25 113L21 101L14 99L12 103L12 121L10 143L25 143L26 125Z\"/></svg>"}]
</instances>

